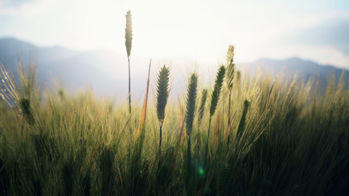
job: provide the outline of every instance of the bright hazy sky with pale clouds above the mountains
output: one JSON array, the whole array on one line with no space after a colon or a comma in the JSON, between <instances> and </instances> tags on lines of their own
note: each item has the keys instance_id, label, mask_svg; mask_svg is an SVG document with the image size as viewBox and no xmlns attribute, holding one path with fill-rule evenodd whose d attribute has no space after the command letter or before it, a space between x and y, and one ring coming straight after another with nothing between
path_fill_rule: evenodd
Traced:
<instances>
[{"instance_id":1,"label":"bright hazy sky with pale clouds above the mountains","mask_svg":"<svg viewBox=\"0 0 349 196\"><path fill-rule=\"evenodd\" d=\"M110 50L216 64L234 44L236 62L301 57L349 68L349 1L0 0L0 38L38 46Z\"/></svg>"}]
</instances>

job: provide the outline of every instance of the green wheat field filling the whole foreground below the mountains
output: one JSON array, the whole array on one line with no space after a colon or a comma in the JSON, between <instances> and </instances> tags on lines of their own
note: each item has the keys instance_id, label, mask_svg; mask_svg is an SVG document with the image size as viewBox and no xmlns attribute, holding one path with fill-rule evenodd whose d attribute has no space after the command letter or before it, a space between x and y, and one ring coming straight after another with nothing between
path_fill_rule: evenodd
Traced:
<instances>
[{"instance_id":1,"label":"green wheat field filling the whole foreground below the mountains","mask_svg":"<svg viewBox=\"0 0 349 196\"><path fill-rule=\"evenodd\" d=\"M347 195L349 89L250 78L233 56L230 46L212 86L189 73L181 96L165 65L156 96L148 75L132 105L88 89L42 101L35 62L18 64L17 83L2 65L0 195Z\"/></svg>"}]
</instances>

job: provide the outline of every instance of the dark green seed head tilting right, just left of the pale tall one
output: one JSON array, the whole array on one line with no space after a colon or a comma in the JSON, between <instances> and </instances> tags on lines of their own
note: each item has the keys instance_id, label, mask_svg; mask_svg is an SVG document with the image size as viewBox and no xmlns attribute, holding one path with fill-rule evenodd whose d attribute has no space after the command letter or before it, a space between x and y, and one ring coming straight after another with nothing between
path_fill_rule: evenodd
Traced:
<instances>
[{"instance_id":1,"label":"dark green seed head tilting right, just left of the pale tall one","mask_svg":"<svg viewBox=\"0 0 349 196\"><path fill-rule=\"evenodd\" d=\"M213 87L213 92L211 97L210 116L213 116L214 111L216 110L219 93L222 87L225 73L226 73L226 68L223 65L221 65L217 73L216 81L214 82L214 87Z\"/></svg>"}]
</instances>

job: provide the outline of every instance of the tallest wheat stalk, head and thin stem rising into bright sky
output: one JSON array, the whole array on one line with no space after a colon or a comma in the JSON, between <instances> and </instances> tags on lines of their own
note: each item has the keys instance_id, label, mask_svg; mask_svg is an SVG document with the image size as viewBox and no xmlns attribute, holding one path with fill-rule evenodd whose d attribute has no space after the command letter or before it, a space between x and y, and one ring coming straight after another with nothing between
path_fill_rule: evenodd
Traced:
<instances>
[{"instance_id":1,"label":"tallest wheat stalk, head and thin stem rising into bright sky","mask_svg":"<svg viewBox=\"0 0 349 196\"><path fill-rule=\"evenodd\" d=\"M127 59L129 61L129 111L131 114L131 74L130 74L130 54L132 47L132 18L131 11L129 10L126 14L126 28L125 28L125 45L127 51Z\"/></svg>"}]
</instances>

